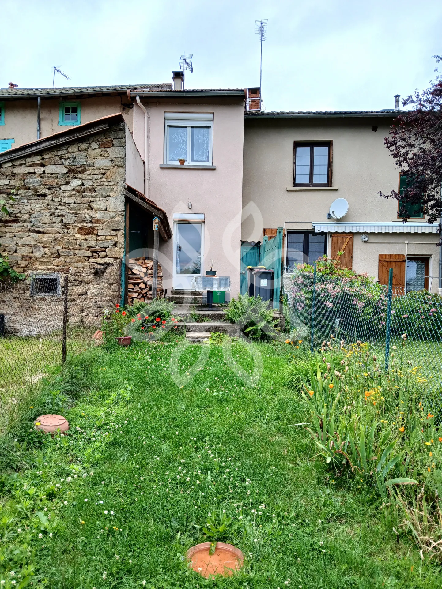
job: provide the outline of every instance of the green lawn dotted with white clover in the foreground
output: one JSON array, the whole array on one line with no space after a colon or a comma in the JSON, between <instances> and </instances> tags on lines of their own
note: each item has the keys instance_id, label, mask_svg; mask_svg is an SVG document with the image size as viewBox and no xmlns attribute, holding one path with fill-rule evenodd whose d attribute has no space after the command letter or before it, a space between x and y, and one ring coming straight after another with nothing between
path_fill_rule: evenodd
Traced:
<instances>
[{"instance_id":1,"label":"green lawn dotted with white clover in the foreground","mask_svg":"<svg viewBox=\"0 0 442 589\"><path fill-rule=\"evenodd\" d=\"M263 373L251 389L220 345L177 386L168 343L105 353L67 412L69 434L17 442L29 468L2 478L0 517L12 518L0 519L5 587L28 565L34 587L440 587L438 563L395 535L375 490L329 478L305 429L291 425L307 419L282 385L286 346L256 344ZM183 351L182 376L204 350ZM239 343L231 360L253 369ZM239 522L225 539L245 566L205 581L183 557L206 540L209 512L220 520L223 510Z\"/></svg>"}]
</instances>

